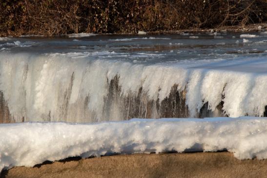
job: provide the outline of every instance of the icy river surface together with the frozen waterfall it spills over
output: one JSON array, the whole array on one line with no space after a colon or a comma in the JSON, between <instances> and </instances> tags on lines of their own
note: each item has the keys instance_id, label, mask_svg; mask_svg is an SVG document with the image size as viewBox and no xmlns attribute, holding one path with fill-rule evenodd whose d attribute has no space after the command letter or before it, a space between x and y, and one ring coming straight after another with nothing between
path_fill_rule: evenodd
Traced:
<instances>
[{"instance_id":1,"label":"icy river surface together with the frozen waterfall it spills over","mask_svg":"<svg viewBox=\"0 0 267 178\"><path fill-rule=\"evenodd\" d=\"M267 115L267 32L0 38L0 122Z\"/></svg>"}]
</instances>

